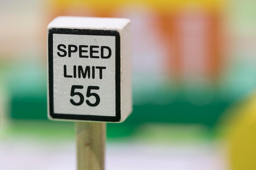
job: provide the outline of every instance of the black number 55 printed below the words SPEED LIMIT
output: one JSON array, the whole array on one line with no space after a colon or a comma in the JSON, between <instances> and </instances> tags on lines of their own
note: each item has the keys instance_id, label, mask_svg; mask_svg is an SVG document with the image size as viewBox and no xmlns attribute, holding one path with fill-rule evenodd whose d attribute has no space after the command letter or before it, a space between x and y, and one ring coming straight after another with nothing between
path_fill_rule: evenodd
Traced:
<instances>
[{"instance_id":1,"label":"black number 55 printed below the words SPEED LIMIT","mask_svg":"<svg viewBox=\"0 0 256 170\"><path fill-rule=\"evenodd\" d=\"M73 99L70 99L70 102L75 105L75 106L80 106L81 104L83 104L84 102L84 97L83 97L83 94L80 93L80 92L75 92L75 89L76 88L79 88L79 89L82 89L83 86L78 86L78 85L73 85L71 87L71 93L70 95L71 96L75 96L75 95L78 95L80 100L79 102L75 102ZM99 95L97 93L91 93L91 90L99 90L99 87L98 86L88 86L87 88L87 93L86 93L86 97L90 97L90 96L94 96L96 98L96 102L95 103L91 103L89 100L86 100L86 104L88 104L88 106L97 106L100 102L100 98L99 98Z\"/></svg>"}]
</instances>

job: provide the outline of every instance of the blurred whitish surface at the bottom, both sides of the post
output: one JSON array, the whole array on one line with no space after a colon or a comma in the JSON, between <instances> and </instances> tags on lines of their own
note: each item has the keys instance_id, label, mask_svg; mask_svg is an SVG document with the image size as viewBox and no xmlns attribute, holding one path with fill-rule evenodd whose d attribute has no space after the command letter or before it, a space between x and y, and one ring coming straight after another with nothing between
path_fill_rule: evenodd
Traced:
<instances>
[{"instance_id":1,"label":"blurred whitish surface at the bottom, both sides of the post","mask_svg":"<svg viewBox=\"0 0 256 170\"><path fill-rule=\"evenodd\" d=\"M106 146L106 170L227 170L216 144L113 143ZM75 170L75 142L0 140L1 170Z\"/></svg>"}]
</instances>

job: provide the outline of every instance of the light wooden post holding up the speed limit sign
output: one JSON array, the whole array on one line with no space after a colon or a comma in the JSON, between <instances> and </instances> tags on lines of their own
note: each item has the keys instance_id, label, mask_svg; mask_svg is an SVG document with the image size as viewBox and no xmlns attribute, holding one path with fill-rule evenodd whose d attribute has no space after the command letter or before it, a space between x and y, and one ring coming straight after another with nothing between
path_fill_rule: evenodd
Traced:
<instances>
[{"instance_id":1,"label":"light wooden post holding up the speed limit sign","mask_svg":"<svg viewBox=\"0 0 256 170\"><path fill-rule=\"evenodd\" d=\"M75 124L77 170L104 170L106 123Z\"/></svg>"}]
</instances>

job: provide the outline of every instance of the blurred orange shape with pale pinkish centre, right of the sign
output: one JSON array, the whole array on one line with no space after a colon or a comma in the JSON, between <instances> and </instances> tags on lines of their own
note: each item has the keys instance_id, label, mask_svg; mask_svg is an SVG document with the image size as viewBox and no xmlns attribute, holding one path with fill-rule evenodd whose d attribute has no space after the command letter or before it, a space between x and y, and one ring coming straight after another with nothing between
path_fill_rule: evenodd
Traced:
<instances>
[{"instance_id":1,"label":"blurred orange shape with pale pinkish centre, right of the sign","mask_svg":"<svg viewBox=\"0 0 256 170\"><path fill-rule=\"evenodd\" d=\"M156 21L167 45L167 68L175 77L214 78L221 68L220 16L204 11L159 16Z\"/></svg>"}]
</instances>

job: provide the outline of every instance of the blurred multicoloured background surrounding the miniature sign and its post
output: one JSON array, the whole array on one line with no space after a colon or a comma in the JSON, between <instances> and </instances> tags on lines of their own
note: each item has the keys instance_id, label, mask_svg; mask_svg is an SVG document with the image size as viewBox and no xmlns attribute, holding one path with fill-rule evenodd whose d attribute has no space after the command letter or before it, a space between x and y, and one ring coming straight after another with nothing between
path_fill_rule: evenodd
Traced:
<instances>
[{"instance_id":1,"label":"blurred multicoloured background surrounding the miniature sign and its post","mask_svg":"<svg viewBox=\"0 0 256 170\"><path fill-rule=\"evenodd\" d=\"M106 170L256 170L255 0L0 0L0 169L74 170L73 122L47 120L46 27L132 21L133 113Z\"/></svg>"}]
</instances>

